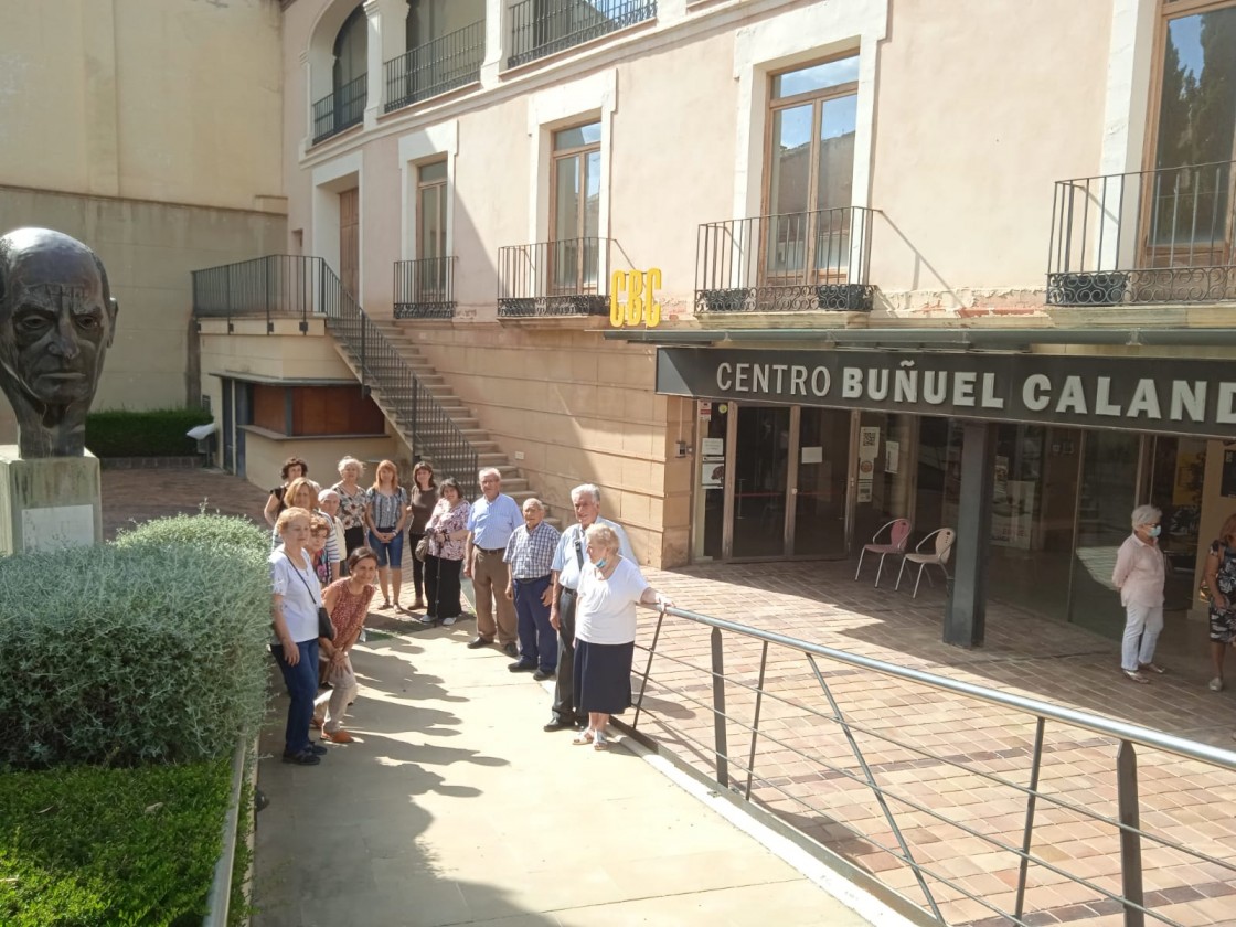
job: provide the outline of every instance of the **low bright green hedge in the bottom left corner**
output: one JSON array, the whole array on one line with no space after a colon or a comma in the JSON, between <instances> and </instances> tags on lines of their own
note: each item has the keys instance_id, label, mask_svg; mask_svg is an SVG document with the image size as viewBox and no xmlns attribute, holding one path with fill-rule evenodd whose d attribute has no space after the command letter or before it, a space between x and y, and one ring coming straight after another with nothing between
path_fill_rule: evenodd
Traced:
<instances>
[{"instance_id":1,"label":"low bright green hedge in the bottom left corner","mask_svg":"<svg viewBox=\"0 0 1236 927\"><path fill-rule=\"evenodd\" d=\"M0 923L200 923L230 786L226 759L0 776Z\"/></svg>"}]
</instances>

